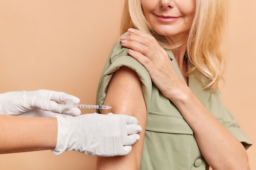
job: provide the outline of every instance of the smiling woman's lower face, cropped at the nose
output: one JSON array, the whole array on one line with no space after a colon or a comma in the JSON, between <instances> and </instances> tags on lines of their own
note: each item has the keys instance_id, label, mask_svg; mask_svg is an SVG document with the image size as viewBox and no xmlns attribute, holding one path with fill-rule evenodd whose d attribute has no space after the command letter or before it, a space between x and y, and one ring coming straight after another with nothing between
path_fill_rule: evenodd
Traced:
<instances>
[{"instance_id":1,"label":"smiling woman's lower face, cropped at the nose","mask_svg":"<svg viewBox=\"0 0 256 170\"><path fill-rule=\"evenodd\" d=\"M141 0L146 20L159 35L184 35L194 18L195 0Z\"/></svg>"}]
</instances>

